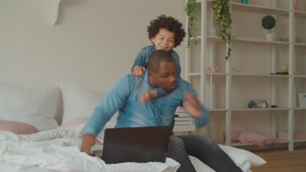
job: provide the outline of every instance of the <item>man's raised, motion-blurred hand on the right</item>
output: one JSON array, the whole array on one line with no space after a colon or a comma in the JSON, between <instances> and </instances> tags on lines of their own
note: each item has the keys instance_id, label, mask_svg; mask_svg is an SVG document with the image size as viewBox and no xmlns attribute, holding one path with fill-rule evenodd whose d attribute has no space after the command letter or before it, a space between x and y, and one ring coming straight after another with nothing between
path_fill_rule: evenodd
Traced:
<instances>
[{"instance_id":1,"label":"man's raised, motion-blurred hand on the right","mask_svg":"<svg viewBox=\"0 0 306 172\"><path fill-rule=\"evenodd\" d=\"M201 104L199 100L188 92L185 92L184 108L193 118L201 117Z\"/></svg>"}]
</instances>

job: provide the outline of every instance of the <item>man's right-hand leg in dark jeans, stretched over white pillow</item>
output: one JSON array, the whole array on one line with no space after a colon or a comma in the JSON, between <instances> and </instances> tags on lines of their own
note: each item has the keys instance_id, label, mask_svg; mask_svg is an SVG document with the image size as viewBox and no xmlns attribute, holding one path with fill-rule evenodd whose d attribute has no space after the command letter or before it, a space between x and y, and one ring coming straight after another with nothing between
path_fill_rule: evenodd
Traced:
<instances>
[{"instance_id":1,"label":"man's right-hand leg in dark jeans, stretched over white pillow","mask_svg":"<svg viewBox=\"0 0 306 172\"><path fill-rule=\"evenodd\" d=\"M242 172L211 138L203 134L177 136L184 141L189 155L195 156L216 172Z\"/></svg>"}]
</instances>

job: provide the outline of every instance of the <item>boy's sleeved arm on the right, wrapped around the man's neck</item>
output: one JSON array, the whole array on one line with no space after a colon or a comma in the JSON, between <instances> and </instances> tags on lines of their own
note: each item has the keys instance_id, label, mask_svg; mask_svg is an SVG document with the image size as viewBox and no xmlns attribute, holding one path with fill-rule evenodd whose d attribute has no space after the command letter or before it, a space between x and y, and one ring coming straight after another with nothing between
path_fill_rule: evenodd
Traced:
<instances>
[{"instance_id":1,"label":"boy's sleeved arm on the right, wrapped around the man's neck","mask_svg":"<svg viewBox=\"0 0 306 172\"><path fill-rule=\"evenodd\" d=\"M180 87L180 83L181 83L181 65L180 65L180 57L178 55L178 53L176 53L175 51L172 50L172 53L175 64L176 64L176 80L175 80L175 85L174 85L174 89L172 89L172 91L167 92L161 88L156 89L157 91L157 96L158 97L164 97L167 96L168 94L170 94L171 92L173 92L174 90L176 90L177 88Z\"/></svg>"}]
</instances>

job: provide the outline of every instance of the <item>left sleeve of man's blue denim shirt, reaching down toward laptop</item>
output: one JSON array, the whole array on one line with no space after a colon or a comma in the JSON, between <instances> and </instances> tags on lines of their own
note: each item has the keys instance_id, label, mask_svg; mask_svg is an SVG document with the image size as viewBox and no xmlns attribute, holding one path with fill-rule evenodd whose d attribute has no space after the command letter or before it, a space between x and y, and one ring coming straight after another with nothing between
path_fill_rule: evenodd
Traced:
<instances>
[{"instance_id":1,"label":"left sleeve of man's blue denim shirt, reaching down toward laptop","mask_svg":"<svg viewBox=\"0 0 306 172\"><path fill-rule=\"evenodd\" d=\"M129 96L129 78L129 75L126 75L117 81L113 89L110 90L106 97L95 108L92 116L84 127L83 134L98 135L111 117L124 106Z\"/></svg>"}]
</instances>

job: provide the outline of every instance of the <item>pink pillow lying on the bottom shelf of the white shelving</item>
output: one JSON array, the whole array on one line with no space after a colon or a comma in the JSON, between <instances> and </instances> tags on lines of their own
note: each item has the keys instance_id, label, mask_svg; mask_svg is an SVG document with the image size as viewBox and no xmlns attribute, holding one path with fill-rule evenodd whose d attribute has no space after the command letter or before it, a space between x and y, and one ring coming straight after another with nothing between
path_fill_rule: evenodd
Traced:
<instances>
[{"instance_id":1,"label":"pink pillow lying on the bottom shelf of the white shelving","mask_svg":"<svg viewBox=\"0 0 306 172\"><path fill-rule=\"evenodd\" d=\"M266 144L276 143L278 138L270 134L260 132L241 132L238 140L242 143L253 143L263 147Z\"/></svg>"}]
</instances>

